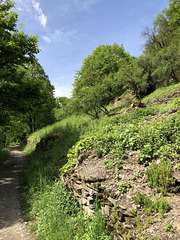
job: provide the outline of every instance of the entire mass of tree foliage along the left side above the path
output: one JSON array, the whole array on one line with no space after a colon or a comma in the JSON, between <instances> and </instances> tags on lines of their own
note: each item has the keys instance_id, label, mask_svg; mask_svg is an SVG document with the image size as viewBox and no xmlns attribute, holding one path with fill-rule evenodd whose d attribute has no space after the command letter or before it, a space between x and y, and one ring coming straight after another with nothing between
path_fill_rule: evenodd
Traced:
<instances>
[{"instance_id":1,"label":"entire mass of tree foliage along the left side above the path","mask_svg":"<svg viewBox=\"0 0 180 240\"><path fill-rule=\"evenodd\" d=\"M38 38L18 28L13 6L0 1L0 147L54 119L54 87L35 57Z\"/></svg>"}]
</instances>

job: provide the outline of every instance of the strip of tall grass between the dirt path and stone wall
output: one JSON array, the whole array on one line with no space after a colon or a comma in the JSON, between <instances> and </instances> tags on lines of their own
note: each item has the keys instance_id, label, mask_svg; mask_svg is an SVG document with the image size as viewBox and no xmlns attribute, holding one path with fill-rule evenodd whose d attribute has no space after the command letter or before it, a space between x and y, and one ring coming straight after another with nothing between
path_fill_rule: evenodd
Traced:
<instances>
[{"instance_id":1,"label":"strip of tall grass between the dirt path and stone wall","mask_svg":"<svg viewBox=\"0 0 180 240\"><path fill-rule=\"evenodd\" d=\"M110 240L105 222L97 211L94 216L82 212L75 199L57 180L58 169L67 161L69 149L84 134L87 117L71 117L48 126L28 138L29 167L22 176L21 202L26 220L33 221L37 239ZM41 139L49 138L48 148L36 151Z\"/></svg>"}]
</instances>

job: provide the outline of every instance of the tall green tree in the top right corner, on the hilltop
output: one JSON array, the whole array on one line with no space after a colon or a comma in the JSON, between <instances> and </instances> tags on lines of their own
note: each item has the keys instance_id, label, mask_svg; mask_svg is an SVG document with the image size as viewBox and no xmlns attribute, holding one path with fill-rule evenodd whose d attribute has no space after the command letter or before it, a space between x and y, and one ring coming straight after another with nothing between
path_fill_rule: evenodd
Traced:
<instances>
[{"instance_id":1,"label":"tall green tree in the top right corner, on the hilltop","mask_svg":"<svg viewBox=\"0 0 180 240\"><path fill-rule=\"evenodd\" d=\"M147 28L145 56L151 59L151 77L156 86L178 82L180 77L180 3L169 1L169 8L157 15L153 29Z\"/></svg>"}]
</instances>

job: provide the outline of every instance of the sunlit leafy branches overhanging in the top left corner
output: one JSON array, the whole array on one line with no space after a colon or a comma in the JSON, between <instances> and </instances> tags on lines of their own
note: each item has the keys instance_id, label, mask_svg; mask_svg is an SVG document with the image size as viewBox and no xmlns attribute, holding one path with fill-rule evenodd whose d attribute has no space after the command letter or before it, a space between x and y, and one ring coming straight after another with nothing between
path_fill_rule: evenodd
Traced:
<instances>
[{"instance_id":1,"label":"sunlit leafy branches overhanging in the top left corner","mask_svg":"<svg viewBox=\"0 0 180 240\"><path fill-rule=\"evenodd\" d=\"M37 36L17 28L18 15L11 11L14 2L0 0L0 73L15 65L33 61L39 52ZM0 75L0 76L1 76Z\"/></svg>"}]
</instances>

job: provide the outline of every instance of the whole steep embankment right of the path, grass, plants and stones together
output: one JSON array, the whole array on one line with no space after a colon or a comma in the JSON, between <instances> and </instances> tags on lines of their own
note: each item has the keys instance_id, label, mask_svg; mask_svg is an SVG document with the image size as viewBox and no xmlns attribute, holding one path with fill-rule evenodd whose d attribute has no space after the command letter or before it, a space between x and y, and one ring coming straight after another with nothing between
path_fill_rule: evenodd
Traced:
<instances>
[{"instance_id":1,"label":"whole steep embankment right of the path, grass, plants and stones together","mask_svg":"<svg viewBox=\"0 0 180 240\"><path fill-rule=\"evenodd\" d=\"M44 129L47 133L39 138L38 133L31 136L26 149L32 164L25 176L24 195L28 196L38 236L53 239L52 229L58 236L62 224L51 224L55 218L59 222L62 214L61 210L58 215L52 214L60 209L58 197L51 208L57 189L54 193L45 185L55 176L62 176L65 186L88 213L94 212L98 193L106 228L113 239L180 238L179 88L177 84L157 90L143 99L145 108L122 106L118 109L121 114L112 117L94 121L74 118L73 127L68 120L63 126L58 123L61 127L52 126L51 131ZM59 176L57 166L62 167L64 162ZM51 204L43 201L47 195ZM71 239L89 239L89 229L96 229L96 235L91 232L93 239L110 239L94 227L98 226L97 219L95 224L82 216L84 233ZM73 219L69 216L68 224L75 221L79 231L79 217Z\"/></svg>"}]
</instances>

